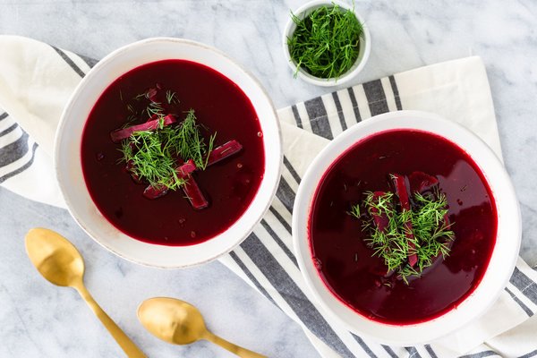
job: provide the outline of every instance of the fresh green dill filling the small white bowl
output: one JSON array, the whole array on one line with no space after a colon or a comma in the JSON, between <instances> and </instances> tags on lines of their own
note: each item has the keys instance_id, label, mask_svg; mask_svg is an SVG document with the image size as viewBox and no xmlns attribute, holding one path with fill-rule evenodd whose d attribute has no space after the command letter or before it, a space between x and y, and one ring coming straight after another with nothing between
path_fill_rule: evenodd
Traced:
<instances>
[{"instance_id":1,"label":"fresh green dill filling the small white bowl","mask_svg":"<svg viewBox=\"0 0 537 358\"><path fill-rule=\"evenodd\" d=\"M363 27L354 10L343 10L337 4L321 6L303 19L294 13L296 30L287 37L291 59L296 64L296 77L302 67L320 78L339 78L358 58Z\"/></svg>"}]
</instances>

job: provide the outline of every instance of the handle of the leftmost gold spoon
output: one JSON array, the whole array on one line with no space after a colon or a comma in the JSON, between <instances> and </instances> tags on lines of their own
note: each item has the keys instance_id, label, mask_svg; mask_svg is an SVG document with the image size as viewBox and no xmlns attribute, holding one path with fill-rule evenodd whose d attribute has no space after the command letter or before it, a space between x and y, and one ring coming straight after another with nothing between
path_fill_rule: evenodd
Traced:
<instances>
[{"instance_id":1,"label":"handle of the leftmost gold spoon","mask_svg":"<svg viewBox=\"0 0 537 358\"><path fill-rule=\"evenodd\" d=\"M93 297L91 297L90 292L88 292L88 290L82 283L75 284L74 288L78 291L79 294L81 294L84 301L88 303L91 311L95 313L103 326L108 329L108 332L110 332L112 337L114 337L115 342L117 342L117 344L120 345L121 348L124 350L124 353L127 354L127 357L147 358L146 355L141 352L140 348L138 348L132 342L131 338L127 337L124 331L115 324L115 321L107 315L107 312L103 311L103 309L100 308L98 303L93 299Z\"/></svg>"}]
</instances>

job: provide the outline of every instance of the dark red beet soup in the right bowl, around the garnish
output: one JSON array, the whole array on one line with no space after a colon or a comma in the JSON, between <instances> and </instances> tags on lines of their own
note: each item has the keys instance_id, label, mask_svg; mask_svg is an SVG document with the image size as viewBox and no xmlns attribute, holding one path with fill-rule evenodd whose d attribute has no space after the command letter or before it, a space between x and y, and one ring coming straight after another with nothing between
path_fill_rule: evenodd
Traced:
<instances>
[{"instance_id":1,"label":"dark red beet soup in the right bowl, around the garnish","mask_svg":"<svg viewBox=\"0 0 537 358\"><path fill-rule=\"evenodd\" d=\"M368 233L346 213L364 192L393 191L388 175L413 172L438 179L455 241L445 260L434 260L406 284L383 276L384 261L364 241ZM434 319L473 292L497 226L490 188L463 149L429 132L395 130L356 143L329 167L311 207L309 238L320 277L339 300L371 320L406 325Z\"/></svg>"}]
</instances>

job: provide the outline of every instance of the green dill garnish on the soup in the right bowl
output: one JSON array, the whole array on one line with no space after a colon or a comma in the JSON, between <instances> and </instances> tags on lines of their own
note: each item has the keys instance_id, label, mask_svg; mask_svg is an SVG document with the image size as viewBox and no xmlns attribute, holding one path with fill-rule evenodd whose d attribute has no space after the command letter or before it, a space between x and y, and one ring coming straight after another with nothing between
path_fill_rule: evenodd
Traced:
<instances>
[{"instance_id":1,"label":"green dill garnish on the soup in the right bowl","mask_svg":"<svg viewBox=\"0 0 537 358\"><path fill-rule=\"evenodd\" d=\"M394 198L393 192L382 195L366 192L362 208L368 215L362 220L362 230L369 234L365 241L373 250L373 255L384 260L388 272L396 272L408 284L408 277L420 277L423 269L432 265L436 257L446 257L449 254L455 234L450 229L452 224L447 223L447 200L444 193L414 193L415 205L412 210L397 211ZM360 206L354 205L350 214L361 218ZM374 215L385 217L388 225L379 230L374 224ZM412 224L411 232L408 223ZM408 257L414 253L417 263L412 267Z\"/></svg>"}]
</instances>

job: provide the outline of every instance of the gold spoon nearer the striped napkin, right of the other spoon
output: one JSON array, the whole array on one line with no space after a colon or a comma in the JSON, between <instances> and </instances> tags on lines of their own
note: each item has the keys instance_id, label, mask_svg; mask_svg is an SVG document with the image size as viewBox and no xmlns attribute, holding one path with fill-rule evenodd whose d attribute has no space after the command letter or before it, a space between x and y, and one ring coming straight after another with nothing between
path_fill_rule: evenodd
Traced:
<instances>
[{"instance_id":1,"label":"gold spoon nearer the striped napkin, right of the other spoon","mask_svg":"<svg viewBox=\"0 0 537 358\"><path fill-rule=\"evenodd\" d=\"M209 332L200 311L175 298L155 297L144 301L138 307L138 320L153 336L167 343L188 345L206 339L243 358L266 358Z\"/></svg>"}]
</instances>

